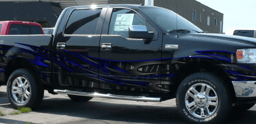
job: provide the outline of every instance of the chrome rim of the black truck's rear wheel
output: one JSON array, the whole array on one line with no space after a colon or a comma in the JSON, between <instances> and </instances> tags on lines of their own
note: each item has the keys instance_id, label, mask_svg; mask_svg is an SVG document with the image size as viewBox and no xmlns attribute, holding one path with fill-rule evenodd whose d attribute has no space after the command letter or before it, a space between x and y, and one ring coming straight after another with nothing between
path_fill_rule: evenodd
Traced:
<instances>
[{"instance_id":1,"label":"chrome rim of the black truck's rear wheel","mask_svg":"<svg viewBox=\"0 0 256 124\"><path fill-rule=\"evenodd\" d=\"M16 102L25 103L31 96L30 83L24 77L17 77L12 84L12 95Z\"/></svg>"}]
</instances>

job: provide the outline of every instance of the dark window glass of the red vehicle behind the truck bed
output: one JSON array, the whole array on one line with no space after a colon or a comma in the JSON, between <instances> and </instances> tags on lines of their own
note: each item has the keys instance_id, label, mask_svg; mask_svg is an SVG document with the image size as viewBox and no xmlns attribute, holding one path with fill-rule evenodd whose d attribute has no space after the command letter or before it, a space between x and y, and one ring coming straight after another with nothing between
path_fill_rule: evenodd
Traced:
<instances>
[{"instance_id":1,"label":"dark window glass of the red vehicle behind the truck bed","mask_svg":"<svg viewBox=\"0 0 256 124\"><path fill-rule=\"evenodd\" d=\"M43 34L41 27L35 25L12 24L9 35Z\"/></svg>"}]
</instances>

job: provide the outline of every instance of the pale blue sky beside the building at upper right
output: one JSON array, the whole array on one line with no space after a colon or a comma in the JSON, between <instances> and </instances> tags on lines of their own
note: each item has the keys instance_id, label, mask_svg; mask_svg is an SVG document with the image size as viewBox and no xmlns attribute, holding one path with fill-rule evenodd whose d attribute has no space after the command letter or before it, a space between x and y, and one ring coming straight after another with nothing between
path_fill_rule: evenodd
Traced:
<instances>
[{"instance_id":1,"label":"pale blue sky beside the building at upper right","mask_svg":"<svg viewBox=\"0 0 256 124\"><path fill-rule=\"evenodd\" d=\"M256 0L196 0L223 13L223 32L229 28L256 28Z\"/></svg>"}]
</instances>

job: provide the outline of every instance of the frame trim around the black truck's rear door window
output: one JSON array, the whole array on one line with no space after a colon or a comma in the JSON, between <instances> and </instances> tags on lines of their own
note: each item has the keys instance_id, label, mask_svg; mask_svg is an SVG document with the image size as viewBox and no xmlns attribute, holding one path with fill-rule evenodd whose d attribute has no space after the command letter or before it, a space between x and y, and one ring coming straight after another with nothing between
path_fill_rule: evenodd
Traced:
<instances>
[{"instance_id":1,"label":"frame trim around the black truck's rear door window","mask_svg":"<svg viewBox=\"0 0 256 124\"><path fill-rule=\"evenodd\" d=\"M101 9L101 13L102 13L103 8L108 8L108 7L97 7L97 8L93 8L93 9ZM71 10L71 12L69 13L68 18L65 22L64 29L62 31L62 35L64 37L72 37L72 36L76 36L76 37L100 37L101 36L101 34L65 34L66 26L67 26L67 23L69 21L69 18L71 16L72 12L74 12L76 10L87 10L87 9L92 9L92 8L91 7L90 8L86 7L86 8L76 8L76 9ZM97 27L98 27L98 22L97 22L97 26L96 26L96 29L95 29L95 33L97 31Z\"/></svg>"}]
</instances>

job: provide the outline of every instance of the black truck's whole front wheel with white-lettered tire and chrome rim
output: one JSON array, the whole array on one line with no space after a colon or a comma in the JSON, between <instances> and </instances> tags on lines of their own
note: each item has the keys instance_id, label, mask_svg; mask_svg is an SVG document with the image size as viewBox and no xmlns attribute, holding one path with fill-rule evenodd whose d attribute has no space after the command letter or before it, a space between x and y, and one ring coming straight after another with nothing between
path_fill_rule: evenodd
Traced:
<instances>
[{"instance_id":1,"label":"black truck's whole front wheel with white-lettered tire and chrome rim","mask_svg":"<svg viewBox=\"0 0 256 124\"><path fill-rule=\"evenodd\" d=\"M207 72L191 74L181 82L176 105L182 117L198 124L223 122L232 108L227 86Z\"/></svg>"}]
</instances>

